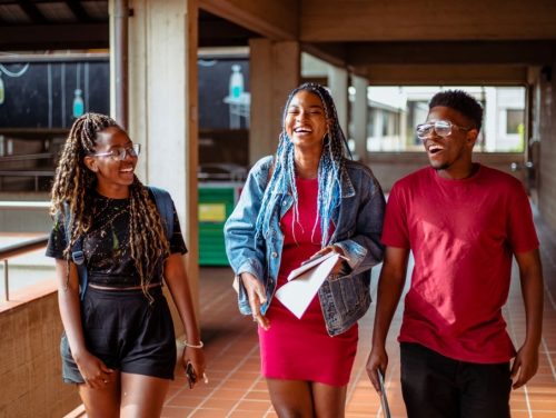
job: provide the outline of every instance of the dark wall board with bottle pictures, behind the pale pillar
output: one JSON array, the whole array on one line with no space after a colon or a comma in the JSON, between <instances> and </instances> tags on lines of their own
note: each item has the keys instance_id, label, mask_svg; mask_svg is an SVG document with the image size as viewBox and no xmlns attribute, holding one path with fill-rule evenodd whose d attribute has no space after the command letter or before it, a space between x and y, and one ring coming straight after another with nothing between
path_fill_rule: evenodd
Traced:
<instances>
[{"instance_id":1,"label":"dark wall board with bottle pictures, behind the pale pillar","mask_svg":"<svg viewBox=\"0 0 556 418\"><path fill-rule=\"evenodd\" d=\"M235 66L242 79L240 103L229 100ZM198 77L200 129L248 129L248 57L201 58L198 60ZM108 57L89 61L3 62L0 63L0 78L3 83L0 129L70 128L76 120L77 90L80 90L83 112L110 113Z\"/></svg>"}]
</instances>

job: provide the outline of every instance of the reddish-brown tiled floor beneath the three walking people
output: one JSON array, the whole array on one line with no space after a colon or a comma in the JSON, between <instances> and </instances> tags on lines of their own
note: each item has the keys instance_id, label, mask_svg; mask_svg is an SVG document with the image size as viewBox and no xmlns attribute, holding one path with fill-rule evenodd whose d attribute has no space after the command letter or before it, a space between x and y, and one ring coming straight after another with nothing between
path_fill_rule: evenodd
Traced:
<instances>
[{"instance_id":1,"label":"reddish-brown tiled floor beneath the three walking people","mask_svg":"<svg viewBox=\"0 0 556 418\"><path fill-rule=\"evenodd\" d=\"M514 418L556 418L556 237L539 227L546 282L544 336L538 374L512 395ZM377 271L375 271L376 273ZM163 417L276 417L265 381L259 376L257 334L249 317L237 311L231 271L228 268L201 269L201 328L206 344L210 382L190 390L182 376L171 384ZM376 288L374 276L373 288ZM359 347L348 387L347 417L381 417L380 401L368 381L365 362L370 346L375 305L360 321ZM516 344L523 340L525 315L519 280L514 277L504 310ZM386 377L393 417L405 417L399 385L399 350L395 341L400 325L396 314L388 338L389 369ZM178 374L179 375L179 374Z\"/></svg>"}]
</instances>

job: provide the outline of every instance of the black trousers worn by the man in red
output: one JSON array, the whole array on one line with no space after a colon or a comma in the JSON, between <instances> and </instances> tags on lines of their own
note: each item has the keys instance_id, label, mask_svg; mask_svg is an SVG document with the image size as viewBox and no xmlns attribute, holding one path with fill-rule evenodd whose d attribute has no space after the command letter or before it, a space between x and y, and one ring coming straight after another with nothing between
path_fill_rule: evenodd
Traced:
<instances>
[{"instance_id":1,"label":"black trousers worn by the man in red","mask_svg":"<svg viewBox=\"0 0 556 418\"><path fill-rule=\"evenodd\" d=\"M409 418L509 418L509 362L459 361L410 342L400 355Z\"/></svg>"}]
</instances>

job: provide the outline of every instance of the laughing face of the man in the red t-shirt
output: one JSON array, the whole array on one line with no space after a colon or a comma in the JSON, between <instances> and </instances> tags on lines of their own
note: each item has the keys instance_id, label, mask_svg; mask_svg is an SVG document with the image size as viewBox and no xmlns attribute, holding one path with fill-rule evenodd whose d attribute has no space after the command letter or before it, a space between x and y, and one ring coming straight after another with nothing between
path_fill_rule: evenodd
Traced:
<instances>
[{"instance_id":1,"label":"laughing face of the man in the red t-shirt","mask_svg":"<svg viewBox=\"0 0 556 418\"><path fill-rule=\"evenodd\" d=\"M427 122L437 120L449 120L459 127L470 127L473 121L455 109L437 106L430 109ZM473 147L477 140L477 129L468 131L451 129L451 133L445 138L437 136L434 131L424 141L430 166L438 175L450 179L463 179L473 172Z\"/></svg>"}]
</instances>

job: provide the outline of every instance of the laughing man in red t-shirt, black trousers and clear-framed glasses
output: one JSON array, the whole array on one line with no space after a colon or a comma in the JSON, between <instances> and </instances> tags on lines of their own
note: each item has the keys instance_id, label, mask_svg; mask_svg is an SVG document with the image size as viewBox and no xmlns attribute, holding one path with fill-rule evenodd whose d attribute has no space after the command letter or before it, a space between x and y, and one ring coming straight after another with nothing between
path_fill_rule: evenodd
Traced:
<instances>
[{"instance_id":1,"label":"laughing man in red t-shirt, black trousers and clear-framed glasses","mask_svg":"<svg viewBox=\"0 0 556 418\"><path fill-rule=\"evenodd\" d=\"M538 368L538 239L522 183L473 162L481 122L483 108L466 92L437 93L427 121L417 127L430 166L397 181L387 203L367 372L379 390L377 370L384 374L388 365L386 336L411 251L415 268L398 337L409 418L509 417L510 388L525 385ZM513 257L526 311L517 352L502 316Z\"/></svg>"}]
</instances>

